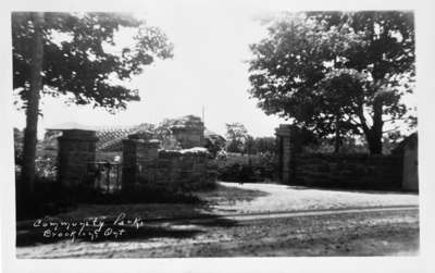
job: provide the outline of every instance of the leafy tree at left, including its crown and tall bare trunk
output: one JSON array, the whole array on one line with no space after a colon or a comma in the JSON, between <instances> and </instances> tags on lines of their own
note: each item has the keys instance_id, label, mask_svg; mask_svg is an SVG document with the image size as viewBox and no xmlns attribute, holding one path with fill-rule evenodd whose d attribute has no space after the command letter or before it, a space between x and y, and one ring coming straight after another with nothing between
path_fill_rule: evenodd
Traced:
<instances>
[{"instance_id":1,"label":"leafy tree at left, including its crown and tall bare trunk","mask_svg":"<svg viewBox=\"0 0 435 273\"><path fill-rule=\"evenodd\" d=\"M115 34L133 29L133 45L119 50ZM26 128L24 190L33 191L40 96L69 97L111 113L139 100L120 83L142 72L156 58L172 57L159 28L121 13L12 13L13 88L23 100Z\"/></svg>"}]
</instances>

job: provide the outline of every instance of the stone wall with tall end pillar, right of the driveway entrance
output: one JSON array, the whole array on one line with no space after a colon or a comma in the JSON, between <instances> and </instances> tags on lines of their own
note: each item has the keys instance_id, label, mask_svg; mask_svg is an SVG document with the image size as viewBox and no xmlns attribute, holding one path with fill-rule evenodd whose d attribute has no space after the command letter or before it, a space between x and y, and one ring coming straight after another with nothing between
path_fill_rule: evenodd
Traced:
<instances>
[{"instance_id":1,"label":"stone wall with tall end pillar, right of the driveway entrance","mask_svg":"<svg viewBox=\"0 0 435 273\"><path fill-rule=\"evenodd\" d=\"M391 156L302 153L303 141L299 133L300 129L293 125L279 125L276 128L276 163L283 184L415 189L402 185L407 177L403 176L403 169L412 169L409 170L409 177L417 177L417 156L412 153L412 149L403 148L403 152ZM412 162L408 162L407 158ZM410 184L417 185L414 181Z\"/></svg>"}]
</instances>

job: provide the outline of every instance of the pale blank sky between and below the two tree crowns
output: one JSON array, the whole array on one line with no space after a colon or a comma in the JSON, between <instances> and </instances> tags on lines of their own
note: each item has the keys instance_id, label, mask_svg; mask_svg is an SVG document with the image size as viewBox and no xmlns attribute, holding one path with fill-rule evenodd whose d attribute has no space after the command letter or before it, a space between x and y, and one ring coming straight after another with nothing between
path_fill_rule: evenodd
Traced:
<instances>
[{"instance_id":1,"label":"pale blank sky between and below the two tree crowns","mask_svg":"<svg viewBox=\"0 0 435 273\"><path fill-rule=\"evenodd\" d=\"M174 45L173 59L156 61L126 83L139 89L141 101L129 102L125 111L113 115L103 109L66 106L59 98L45 97L39 137L45 128L65 122L88 126L159 123L165 117L201 116L202 108L206 127L219 134L225 133L225 123L239 122L253 136L273 136L274 128L285 121L265 115L247 91L249 45L266 34L256 20L259 15L259 11L237 5L199 3L137 11L135 16L160 27ZM24 125L21 112L14 126Z\"/></svg>"}]
</instances>

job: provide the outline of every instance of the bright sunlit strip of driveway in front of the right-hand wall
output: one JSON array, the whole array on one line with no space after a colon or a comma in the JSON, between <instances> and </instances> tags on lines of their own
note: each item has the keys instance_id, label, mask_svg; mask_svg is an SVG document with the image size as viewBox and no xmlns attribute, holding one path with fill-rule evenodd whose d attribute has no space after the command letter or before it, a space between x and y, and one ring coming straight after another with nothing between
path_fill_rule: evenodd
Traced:
<instances>
[{"instance_id":1,"label":"bright sunlit strip of driveway in front of the right-hand wall","mask_svg":"<svg viewBox=\"0 0 435 273\"><path fill-rule=\"evenodd\" d=\"M264 195L252 200L222 201L213 206L214 211L220 214L419 204L419 196L411 193L336 190L262 183L221 184L258 190Z\"/></svg>"}]
</instances>

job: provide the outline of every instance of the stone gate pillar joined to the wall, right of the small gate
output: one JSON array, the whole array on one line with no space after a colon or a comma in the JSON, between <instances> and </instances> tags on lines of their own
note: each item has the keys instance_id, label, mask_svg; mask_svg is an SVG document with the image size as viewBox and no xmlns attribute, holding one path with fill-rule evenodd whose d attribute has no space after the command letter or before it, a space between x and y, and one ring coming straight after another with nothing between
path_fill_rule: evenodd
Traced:
<instances>
[{"instance_id":1,"label":"stone gate pillar joined to the wall, right of the small gate","mask_svg":"<svg viewBox=\"0 0 435 273\"><path fill-rule=\"evenodd\" d=\"M123 189L133 186L137 182L138 175L144 171L141 169L147 163L158 159L159 147L159 140L140 139L134 135L123 140Z\"/></svg>"}]
</instances>

